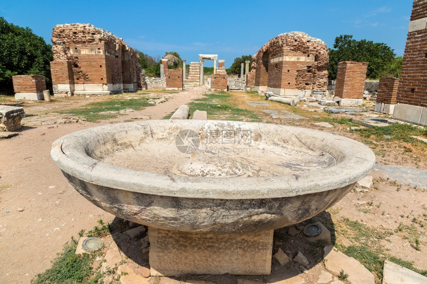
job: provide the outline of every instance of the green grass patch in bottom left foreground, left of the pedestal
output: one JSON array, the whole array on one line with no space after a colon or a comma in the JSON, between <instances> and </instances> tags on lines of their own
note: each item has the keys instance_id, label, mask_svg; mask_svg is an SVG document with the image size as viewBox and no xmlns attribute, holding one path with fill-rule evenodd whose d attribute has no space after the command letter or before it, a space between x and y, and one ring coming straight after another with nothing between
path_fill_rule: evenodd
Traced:
<instances>
[{"instance_id":1,"label":"green grass patch in bottom left foreground, left of the pedestal","mask_svg":"<svg viewBox=\"0 0 427 284\"><path fill-rule=\"evenodd\" d=\"M101 279L101 273L92 270L96 254L75 254L77 244L66 243L62 253L54 260L52 268L36 275L32 284L95 284Z\"/></svg>"}]
</instances>

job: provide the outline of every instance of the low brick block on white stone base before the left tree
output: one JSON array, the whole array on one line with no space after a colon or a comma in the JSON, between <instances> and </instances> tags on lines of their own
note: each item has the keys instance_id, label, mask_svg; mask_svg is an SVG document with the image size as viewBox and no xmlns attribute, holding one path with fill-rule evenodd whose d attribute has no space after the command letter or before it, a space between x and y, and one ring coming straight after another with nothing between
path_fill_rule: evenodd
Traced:
<instances>
[{"instance_id":1,"label":"low brick block on white stone base before the left tree","mask_svg":"<svg viewBox=\"0 0 427 284\"><path fill-rule=\"evenodd\" d=\"M13 90L17 100L40 101L44 99L46 79L42 75L16 75L12 77Z\"/></svg>"}]
</instances>

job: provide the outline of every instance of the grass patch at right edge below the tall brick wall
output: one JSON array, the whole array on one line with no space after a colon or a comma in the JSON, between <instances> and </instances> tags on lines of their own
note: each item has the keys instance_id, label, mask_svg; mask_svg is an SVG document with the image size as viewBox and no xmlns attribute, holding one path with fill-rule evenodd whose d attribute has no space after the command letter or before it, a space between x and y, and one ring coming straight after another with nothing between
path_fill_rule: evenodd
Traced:
<instances>
[{"instance_id":1,"label":"grass patch at right edge below the tall brick wall","mask_svg":"<svg viewBox=\"0 0 427 284\"><path fill-rule=\"evenodd\" d=\"M389 126L366 127L355 130L362 137L374 139L375 141L385 141L384 135L390 136L389 140L403 141L406 143L418 142L411 136L427 137L427 129L420 129L416 126L404 123L394 123Z\"/></svg>"}]
</instances>

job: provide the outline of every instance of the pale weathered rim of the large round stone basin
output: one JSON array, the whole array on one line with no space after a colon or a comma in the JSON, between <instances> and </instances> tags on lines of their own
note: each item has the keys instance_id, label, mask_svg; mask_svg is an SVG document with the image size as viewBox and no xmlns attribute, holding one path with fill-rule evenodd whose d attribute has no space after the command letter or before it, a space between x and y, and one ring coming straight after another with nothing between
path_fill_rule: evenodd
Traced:
<instances>
[{"instance_id":1,"label":"pale weathered rim of the large round stone basin","mask_svg":"<svg viewBox=\"0 0 427 284\"><path fill-rule=\"evenodd\" d=\"M323 169L272 177L192 177L165 175L131 170L95 160L88 156L88 137L96 139L100 133L122 131L132 126L149 129L200 129L204 126L233 125L260 131L268 129L281 133L307 133L320 145L334 143L334 151L342 155L337 165ZM262 126L262 127L261 127ZM275 129L276 128L276 129ZM179 131L179 130L178 130ZM285 135L285 134L284 134ZM334 156L334 155L333 155ZM64 172L83 181L144 194L186 198L266 199L316 193L352 184L369 174L375 166L375 155L364 144L353 139L313 129L221 120L148 120L108 124L88 128L63 136L52 145L51 157Z\"/></svg>"}]
</instances>

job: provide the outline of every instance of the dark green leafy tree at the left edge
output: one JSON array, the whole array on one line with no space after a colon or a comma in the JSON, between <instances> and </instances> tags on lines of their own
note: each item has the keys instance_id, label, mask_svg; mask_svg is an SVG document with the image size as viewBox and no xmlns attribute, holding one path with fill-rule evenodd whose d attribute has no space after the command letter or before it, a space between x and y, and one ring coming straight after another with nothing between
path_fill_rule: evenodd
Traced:
<instances>
[{"instance_id":1,"label":"dark green leafy tree at the left edge","mask_svg":"<svg viewBox=\"0 0 427 284\"><path fill-rule=\"evenodd\" d=\"M52 46L26 27L0 17L0 86L11 88L14 75L43 75L49 82Z\"/></svg>"}]
</instances>

